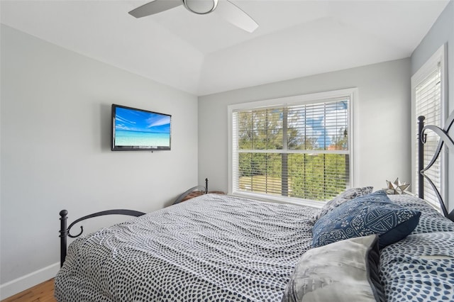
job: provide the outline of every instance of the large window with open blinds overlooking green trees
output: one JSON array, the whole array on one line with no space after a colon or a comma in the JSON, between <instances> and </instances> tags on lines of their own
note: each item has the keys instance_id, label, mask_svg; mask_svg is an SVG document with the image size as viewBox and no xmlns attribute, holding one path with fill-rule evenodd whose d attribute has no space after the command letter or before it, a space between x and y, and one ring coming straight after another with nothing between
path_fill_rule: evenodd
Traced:
<instances>
[{"instance_id":1,"label":"large window with open blinds overlooking green trees","mask_svg":"<svg viewBox=\"0 0 454 302\"><path fill-rule=\"evenodd\" d=\"M229 106L231 193L326 201L350 187L353 91Z\"/></svg>"}]
</instances>

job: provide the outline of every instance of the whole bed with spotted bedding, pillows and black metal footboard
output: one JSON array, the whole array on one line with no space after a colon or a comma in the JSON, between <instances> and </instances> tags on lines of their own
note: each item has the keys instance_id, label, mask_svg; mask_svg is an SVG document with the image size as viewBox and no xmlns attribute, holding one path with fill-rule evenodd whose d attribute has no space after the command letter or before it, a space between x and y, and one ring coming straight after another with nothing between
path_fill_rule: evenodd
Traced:
<instances>
[{"instance_id":1,"label":"whole bed with spotted bedding, pillows and black metal footboard","mask_svg":"<svg viewBox=\"0 0 454 302\"><path fill-rule=\"evenodd\" d=\"M118 213L136 217L70 232ZM352 188L316 209L203 194L69 227L66 215L57 301L454 301L452 216L416 196Z\"/></svg>"}]
</instances>

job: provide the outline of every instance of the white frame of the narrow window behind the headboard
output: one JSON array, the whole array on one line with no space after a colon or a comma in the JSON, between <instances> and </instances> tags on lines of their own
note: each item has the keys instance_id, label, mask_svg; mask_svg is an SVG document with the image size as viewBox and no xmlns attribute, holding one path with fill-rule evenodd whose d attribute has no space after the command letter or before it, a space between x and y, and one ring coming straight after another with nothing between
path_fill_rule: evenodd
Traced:
<instances>
[{"instance_id":1,"label":"white frame of the narrow window behind the headboard","mask_svg":"<svg viewBox=\"0 0 454 302\"><path fill-rule=\"evenodd\" d=\"M411 183L414 184L411 186L411 192L417 194L416 191L416 184L418 183L418 178L416 177L416 162L418 156L418 150L416 150L416 86L421 84L426 77L428 77L433 69L436 68L438 64L440 64L440 102L441 102L441 128L444 128L444 123L447 116L446 109L447 109L447 98L448 95L448 82L447 82L447 44L443 44L441 47L436 50L436 52L431 55L431 57L414 73L411 77ZM446 173L448 171L448 161L445 160L445 155L441 152L441 179L440 179L440 194L443 200L445 200L446 196L448 196L448 185L445 185L446 180ZM438 201L432 203L434 206L438 206Z\"/></svg>"}]
</instances>

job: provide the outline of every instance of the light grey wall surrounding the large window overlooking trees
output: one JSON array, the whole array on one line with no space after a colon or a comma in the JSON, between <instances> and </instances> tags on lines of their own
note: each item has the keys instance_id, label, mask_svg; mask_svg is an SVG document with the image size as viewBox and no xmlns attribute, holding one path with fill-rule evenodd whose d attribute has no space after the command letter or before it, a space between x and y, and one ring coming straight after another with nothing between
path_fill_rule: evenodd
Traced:
<instances>
[{"instance_id":1,"label":"light grey wall surrounding the large window overlooking trees","mask_svg":"<svg viewBox=\"0 0 454 302\"><path fill-rule=\"evenodd\" d=\"M209 177L211 189L228 189L228 105L353 87L359 91L355 121L359 175L355 175L355 186L382 189L386 179L410 181L407 58L199 97L199 183Z\"/></svg>"}]
</instances>

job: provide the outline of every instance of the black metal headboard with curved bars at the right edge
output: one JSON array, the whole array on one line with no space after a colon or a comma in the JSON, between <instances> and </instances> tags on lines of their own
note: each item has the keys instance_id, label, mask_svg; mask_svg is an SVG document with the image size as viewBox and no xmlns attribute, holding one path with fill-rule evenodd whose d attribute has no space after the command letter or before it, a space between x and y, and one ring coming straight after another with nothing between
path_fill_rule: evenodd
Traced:
<instances>
[{"instance_id":1,"label":"black metal headboard with curved bars at the right edge","mask_svg":"<svg viewBox=\"0 0 454 302\"><path fill-rule=\"evenodd\" d=\"M426 179L428 181L428 183L431 185L433 191L435 192L435 194L436 194L436 196L438 198L438 202L440 203L440 208L441 208L441 211L443 212L443 215L445 217L449 218L450 220L454 221L454 210L451 211L450 213L448 212L448 208L446 208L445 202L443 201L443 198L442 198L442 196L440 194L440 191L438 191L438 189L435 186L435 184L433 184L433 181L431 181L431 179L425 174L425 172L428 169L430 169L432 167L432 165L436 162L438 157L440 157L443 145L448 150L453 150L454 151L454 140L453 140L453 138L450 138L450 135L449 135L449 130L450 130L451 126L454 124L454 111L450 114L450 116L446 120L445 128L443 128L443 129L438 127L438 126L436 126L436 125L424 125L424 119L425 119L424 116L419 116L418 117L418 133L419 133L419 137L418 137L418 142L419 142L418 143L418 151L419 151L418 152L418 170L419 170L419 174L418 174L418 185L419 185L418 195L419 195L419 198L424 198L424 184L423 184L423 181L424 181L424 179ZM438 141L438 145L437 145L436 151L433 154L433 157L432 157L431 161L426 165L426 167L424 167L424 163L423 163L424 148L423 148L423 145L426 143L426 136L427 136L426 130L431 130L434 133L436 133L436 135L438 135L440 140Z\"/></svg>"}]
</instances>

